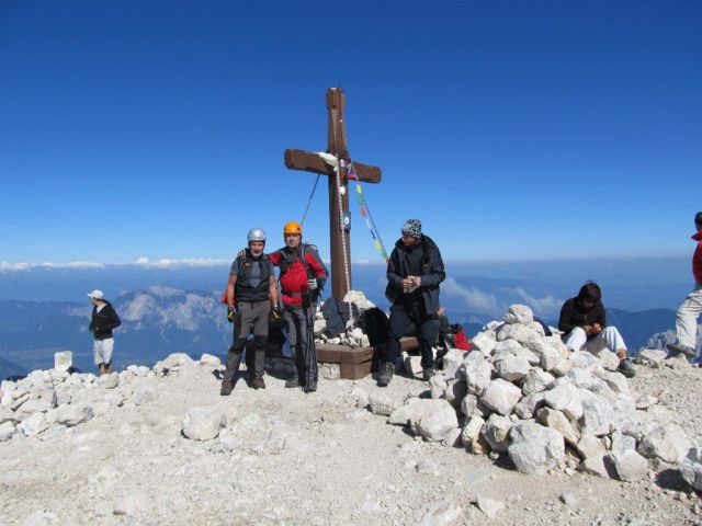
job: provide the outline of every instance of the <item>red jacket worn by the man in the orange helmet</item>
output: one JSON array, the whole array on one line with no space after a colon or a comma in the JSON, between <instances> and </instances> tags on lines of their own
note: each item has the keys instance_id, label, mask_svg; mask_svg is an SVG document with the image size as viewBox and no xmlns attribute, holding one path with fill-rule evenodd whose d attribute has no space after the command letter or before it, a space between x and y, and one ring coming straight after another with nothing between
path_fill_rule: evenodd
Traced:
<instances>
[{"instance_id":1,"label":"red jacket worn by the man in the orange helmet","mask_svg":"<svg viewBox=\"0 0 702 526\"><path fill-rule=\"evenodd\" d=\"M281 300L284 305L303 305L302 293L307 290L307 279L315 277L319 287L327 279L327 268L321 262L317 251L310 245L305 247L305 261L309 266L312 276L307 276L307 268L299 260L299 249L292 251L284 247L272 254L269 254L271 263L275 266L285 266L285 272L281 273L280 282L282 290ZM285 260L283 262L283 260Z\"/></svg>"}]
</instances>

